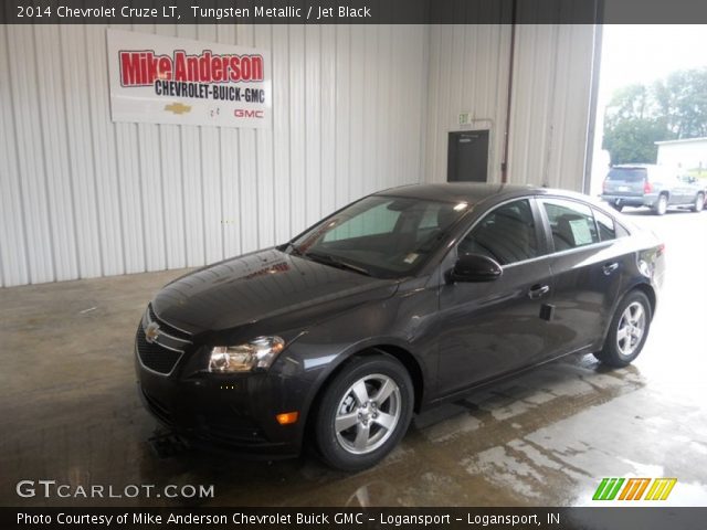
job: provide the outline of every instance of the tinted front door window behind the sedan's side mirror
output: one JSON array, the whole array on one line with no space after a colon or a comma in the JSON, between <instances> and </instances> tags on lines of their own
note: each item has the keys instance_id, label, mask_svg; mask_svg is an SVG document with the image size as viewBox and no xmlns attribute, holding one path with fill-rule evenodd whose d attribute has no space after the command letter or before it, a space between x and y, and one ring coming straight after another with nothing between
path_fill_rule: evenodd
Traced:
<instances>
[{"instance_id":1,"label":"tinted front door window behind the sedan's side mirror","mask_svg":"<svg viewBox=\"0 0 707 530\"><path fill-rule=\"evenodd\" d=\"M460 254L483 254L502 265L537 257L538 240L528 200L498 206L458 245Z\"/></svg>"}]
</instances>

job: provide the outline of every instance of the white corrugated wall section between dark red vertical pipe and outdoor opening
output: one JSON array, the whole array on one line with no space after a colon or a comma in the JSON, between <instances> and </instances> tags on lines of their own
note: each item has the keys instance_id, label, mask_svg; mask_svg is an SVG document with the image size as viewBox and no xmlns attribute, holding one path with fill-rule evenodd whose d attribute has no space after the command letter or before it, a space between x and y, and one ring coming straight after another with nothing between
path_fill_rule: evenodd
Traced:
<instances>
[{"instance_id":1,"label":"white corrugated wall section between dark red vertical pipe and outdoor opening","mask_svg":"<svg viewBox=\"0 0 707 530\"><path fill-rule=\"evenodd\" d=\"M516 26L509 182L582 191L593 54L593 25Z\"/></svg>"}]
</instances>

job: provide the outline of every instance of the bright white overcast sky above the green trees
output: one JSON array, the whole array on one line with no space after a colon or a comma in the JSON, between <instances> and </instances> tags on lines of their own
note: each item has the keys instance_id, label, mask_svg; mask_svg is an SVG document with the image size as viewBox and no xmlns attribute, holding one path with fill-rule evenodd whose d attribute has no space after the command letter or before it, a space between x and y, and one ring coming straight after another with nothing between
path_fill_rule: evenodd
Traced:
<instances>
[{"instance_id":1,"label":"bright white overcast sky above the green trees","mask_svg":"<svg viewBox=\"0 0 707 530\"><path fill-rule=\"evenodd\" d=\"M603 26L601 91L707 66L707 25Z\"/></svg>"}]
</instances>

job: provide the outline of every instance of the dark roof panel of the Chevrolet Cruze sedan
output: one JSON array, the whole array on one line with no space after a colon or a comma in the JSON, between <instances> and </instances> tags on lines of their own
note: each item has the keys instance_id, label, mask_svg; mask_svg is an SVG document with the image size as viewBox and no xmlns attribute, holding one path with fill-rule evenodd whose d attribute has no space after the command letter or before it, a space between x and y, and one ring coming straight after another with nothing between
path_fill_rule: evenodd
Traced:
<instances>
[{"instance_id":1,"label":"dark roof panel of the Chevrolet Cruze sedan","mask_svg":"<svg viewBox=\"0 0 707 530\"><path fill-rule=\"evenodd\" d=\"M443 202L467 202L476 204L489 197L516 197L525 194L540 194L547 189L523 184L488 184L482 182L445 182L431 184L409 184L389 188L374 193L376 195L407 197L412 199L428 199Z\"/></svg>"}]
</instances>

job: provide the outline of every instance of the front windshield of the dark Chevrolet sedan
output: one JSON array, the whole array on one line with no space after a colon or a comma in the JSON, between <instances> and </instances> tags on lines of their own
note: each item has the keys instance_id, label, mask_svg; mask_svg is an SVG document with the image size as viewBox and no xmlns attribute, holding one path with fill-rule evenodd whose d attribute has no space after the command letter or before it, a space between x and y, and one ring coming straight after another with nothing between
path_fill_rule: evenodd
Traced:
<instances>
[{"instance_id":1,"label":"front windshield of the dark Chevrolet sedan","mask_svg":"<svg viewBox=\"0 0 707 530\"><path fill-rule=\"evenodd\" d=\"M465 202L371 195L315 225L292 254L376 277L401 277L422 265Z\"/></svg>"}]
</instances>

